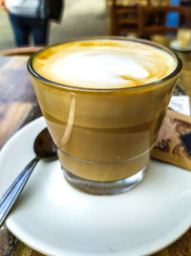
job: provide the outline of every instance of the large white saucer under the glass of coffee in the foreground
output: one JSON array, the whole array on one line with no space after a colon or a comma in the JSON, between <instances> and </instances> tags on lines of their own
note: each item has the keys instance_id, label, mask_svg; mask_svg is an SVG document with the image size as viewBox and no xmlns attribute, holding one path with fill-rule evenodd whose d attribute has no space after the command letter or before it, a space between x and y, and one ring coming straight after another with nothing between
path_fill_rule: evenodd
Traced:
<instances>
[{"instance_id":1,"label":"large white saucer under the glass of coffee in the foreground","mask_svg":"<svg viewBox=\"0 0 191 256\"><path fill-rule=\"evenodd\" d=\"M0 196L32 159L45 127L39 118L0 152ZM41 161L6 221L25 244L48 255L145 255L177 240L191 224L191 173L152 160L143 181L117 196L93 196L65 180L57 160Z\"/></svg>"}]
</instances>

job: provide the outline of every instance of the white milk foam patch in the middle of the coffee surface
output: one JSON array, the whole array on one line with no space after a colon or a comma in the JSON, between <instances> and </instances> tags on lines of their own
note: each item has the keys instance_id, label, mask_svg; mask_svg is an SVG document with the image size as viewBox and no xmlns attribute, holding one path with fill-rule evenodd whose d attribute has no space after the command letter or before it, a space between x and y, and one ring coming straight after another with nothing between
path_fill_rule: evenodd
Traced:
<instances>
[{"instance_id":1,"label":"white milk foam patch in the middle of the coffee surface","mask_svg":"<svg viewBox=\"0 0 191 256\"><path fill-rule=\"evenodd\" d=\"M93 84L99 87L115 86L124 83L120 76L145 79L149 72L136 59L123 56L97 53L94 51L74 53L53 63L51 68L53 77L62 81L77 83L80 86ZM126 82L126 81L125 81Z\"/></svg>"}]
</instances>

